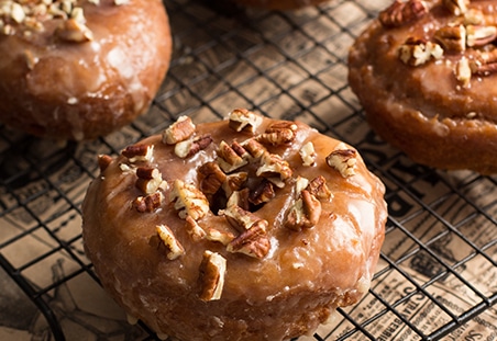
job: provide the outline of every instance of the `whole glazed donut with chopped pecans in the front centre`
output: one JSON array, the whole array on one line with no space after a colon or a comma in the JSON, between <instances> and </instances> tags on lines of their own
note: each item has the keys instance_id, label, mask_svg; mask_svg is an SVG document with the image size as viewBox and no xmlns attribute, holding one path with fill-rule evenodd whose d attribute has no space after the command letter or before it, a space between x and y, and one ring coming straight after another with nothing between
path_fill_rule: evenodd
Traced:
<instances>
[{"instance_id":1,"label":"whole glazed donut with chopped pecans in the front centre","mask_svg":"<svg viewBox=\"0 0 497 341\"><path fill-rule=\"evenodd\" d=\"M86 253L161 338L287 340L368 291L385 186L356 149L303 123L181 116L98 160Z\"/></svg>"}]
</instances>

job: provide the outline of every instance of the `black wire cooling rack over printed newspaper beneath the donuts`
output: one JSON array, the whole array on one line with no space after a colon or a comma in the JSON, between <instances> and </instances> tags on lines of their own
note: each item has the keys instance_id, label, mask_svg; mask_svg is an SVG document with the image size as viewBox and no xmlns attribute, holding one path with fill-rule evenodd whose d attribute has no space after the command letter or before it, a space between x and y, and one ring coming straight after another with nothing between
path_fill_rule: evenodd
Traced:
<instances>
[{"instance_id":1,"label":"black wire cooling rack over printed newspaper beneath the donuts","mask_svg":"<svg viewBox=\"0 0 497 341\"><path fill-rule=\"evenodd\" d=\"M413 163L368 128L346 82L349 46L389 0L331 0L294 12L224 0L165 4L175 50L148 113L80 144L0 127L0 284L13 287L0 294L0 331L156 340L144 325L88 307L107 302L80 231L96 156L119 154L180 115L203 122L248 107L354 145L387 186L386 241L369 293L302 339L497 340L497 178ZM19 322L19 309L27 322Z\"/></svg>"}]
</instances>

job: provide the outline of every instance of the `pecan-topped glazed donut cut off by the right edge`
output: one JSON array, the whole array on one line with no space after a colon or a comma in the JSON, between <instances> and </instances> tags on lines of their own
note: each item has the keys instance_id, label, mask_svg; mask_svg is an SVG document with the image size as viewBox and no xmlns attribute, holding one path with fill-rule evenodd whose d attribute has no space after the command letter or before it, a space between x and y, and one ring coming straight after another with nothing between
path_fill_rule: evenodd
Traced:
<instances>
[{"instance_id":1,"label":"pecan-topped glazed donut cut off by the right edge","mask_svg":"<svg viewBox=\"0 0 497 341\"><path fill-rule=\"evenodd\" d=\"M356 39L349 81L416 162L497 172L497 1L395 1Z\"/></svg>"}]
</instances>

